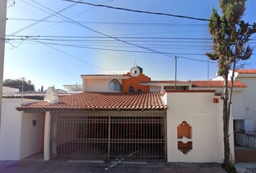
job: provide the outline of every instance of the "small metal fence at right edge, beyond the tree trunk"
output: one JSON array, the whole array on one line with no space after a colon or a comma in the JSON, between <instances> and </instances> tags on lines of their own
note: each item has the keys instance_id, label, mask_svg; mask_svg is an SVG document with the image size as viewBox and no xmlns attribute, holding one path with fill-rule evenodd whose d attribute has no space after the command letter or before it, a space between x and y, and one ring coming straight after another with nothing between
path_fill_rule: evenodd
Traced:
<instances>
[{"instance_id":1,"label":"small metal fence at right edge, beyond the tree trunk","mask_svg":"<svg viewBox=\"0 0 256 173\"><path fill-rule=\"evenodd\" d=\"M256 131L235 131L234 143L239 150L256 150Z\"/></svg>"}]
</instances>

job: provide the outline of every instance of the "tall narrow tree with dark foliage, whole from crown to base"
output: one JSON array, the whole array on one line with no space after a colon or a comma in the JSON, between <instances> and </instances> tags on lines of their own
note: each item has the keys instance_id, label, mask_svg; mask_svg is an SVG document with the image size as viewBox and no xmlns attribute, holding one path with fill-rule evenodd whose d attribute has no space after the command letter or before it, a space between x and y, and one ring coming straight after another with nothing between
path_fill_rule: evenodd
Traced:
<instances>
[{"instance_id":1,"label":"tall narrow tree with dark foliage, whole from crown to base","mask_svg":"<svg viewBox=\"0 0 256 173\"><path fill-rule=\"evenodd\" d=\"M213 8L209 32L213 38L213 53L206 53L211 60L218 61L218 75L224 79L223 99L223 141L224 166L231 164L229 146L229 121L234 83L234 71L242 61L252 56L249 37L256 32L256 24L249 25L242 20L246 0L220 0L222 15ZM232 71L231 77L229 71ZM229 81L230 80L230 81Z\"/></svg>"}]
</instances>

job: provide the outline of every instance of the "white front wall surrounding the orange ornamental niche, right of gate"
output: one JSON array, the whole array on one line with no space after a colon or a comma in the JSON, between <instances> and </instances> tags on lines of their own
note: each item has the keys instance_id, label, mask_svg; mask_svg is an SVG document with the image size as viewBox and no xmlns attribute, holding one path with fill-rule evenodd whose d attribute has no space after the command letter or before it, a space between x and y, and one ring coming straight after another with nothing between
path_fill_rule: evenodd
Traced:
<instances>
[{"instance_id":1,"label":"white front wall surrounding the orange ornamental niche, right of gate","mask_svg":"<svg viewBox=\"0 0 256 173\"><path fill-rule=\"evenodd\" d=\"M213 92L178 92L167 94L168 161L223 161L222 102L213 103ZM177 126L187 121L192 126L192 150L183 154L177 146ZM230 146L234 156L234 137L230 126Z\"/></svg>"}]
</instances>

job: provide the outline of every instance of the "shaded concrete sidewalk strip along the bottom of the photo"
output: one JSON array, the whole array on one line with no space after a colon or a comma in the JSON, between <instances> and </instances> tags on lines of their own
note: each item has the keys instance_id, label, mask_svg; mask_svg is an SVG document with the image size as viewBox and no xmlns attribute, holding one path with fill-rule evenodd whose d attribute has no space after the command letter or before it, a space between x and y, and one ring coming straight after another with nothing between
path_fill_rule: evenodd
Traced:
<instances>
[{"instance_id":1,"label":"shaded concrete sidewalk strip along the bottom of the photo","mask_svg":"<svg viewBox=\"0 0 256 173\"><path fill-rule=\"evenodd\" d=\"M108 162L103 164L88 164L69 161L0 161L1 173L225 173L219 164L185 164L165 162L134 162L117 163Z\"/></svg>"}]
</instances>

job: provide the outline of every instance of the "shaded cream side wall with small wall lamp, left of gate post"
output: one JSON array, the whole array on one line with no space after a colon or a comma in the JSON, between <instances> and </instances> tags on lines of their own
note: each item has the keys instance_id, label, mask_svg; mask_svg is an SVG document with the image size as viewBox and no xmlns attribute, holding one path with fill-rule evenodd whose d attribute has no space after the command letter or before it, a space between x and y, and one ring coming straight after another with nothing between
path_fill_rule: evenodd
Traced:
<instances>
[{"instance_id":1,"label":"shaded cream side wall with small wall lamp, left of gate post","mask_svg":"<svg viewBox=\"0 0 256 173\"><path fill-rule=\"evenodd\" d=\"M36 154L41 149L42 112L24 112L22 115L20 159ZM36 125L33 125L35 120Z\"/></svg>"}]
</instances>

